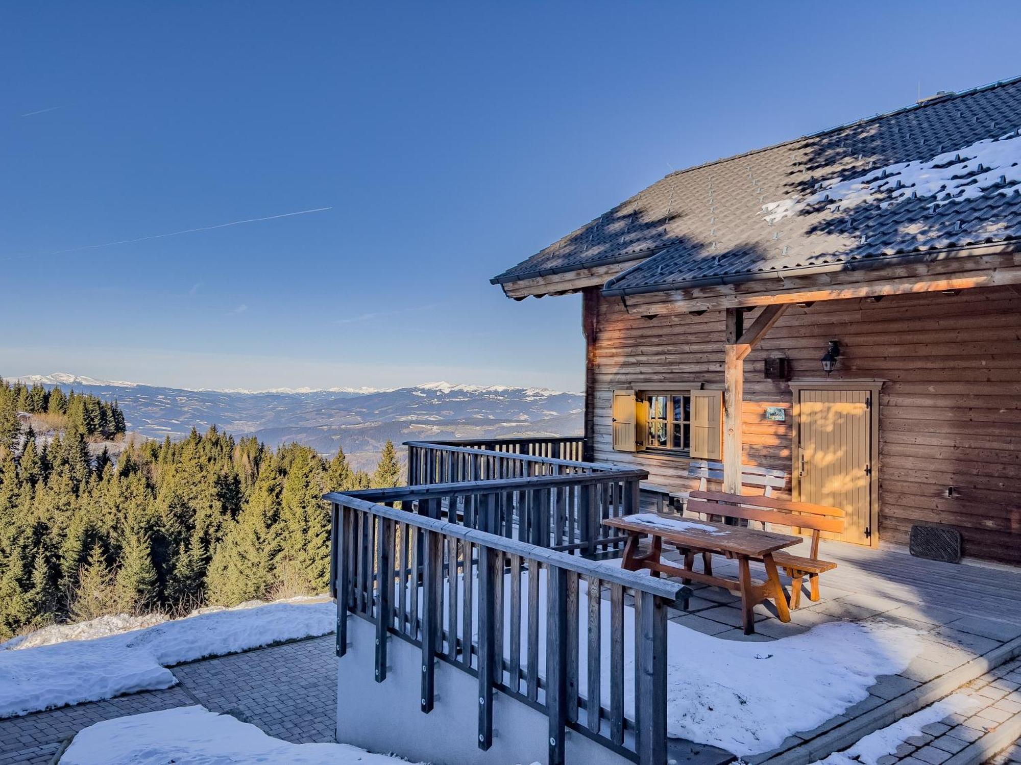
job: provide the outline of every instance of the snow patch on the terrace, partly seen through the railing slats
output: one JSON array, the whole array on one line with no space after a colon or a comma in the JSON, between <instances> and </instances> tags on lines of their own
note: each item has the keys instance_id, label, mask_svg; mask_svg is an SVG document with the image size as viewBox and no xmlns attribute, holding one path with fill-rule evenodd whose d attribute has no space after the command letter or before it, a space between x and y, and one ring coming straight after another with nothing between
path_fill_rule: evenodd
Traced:
<instances>
[{"instance_id":1,"label":"snow patch on the terrace, partly seen through the railing slats","mask_svg":"<svg viewBox=\"0 0 1021 765\"><path fill-rule=\"evenodd\" d=\"M607 562L607 565L612 565ZM528 592L528 571L521 592ZM503 581L503 652L510 651L510 576ZM460 588L459 588L460 589ZM477 594L478 586L474 589ZM419 593L420 599L422 592ZM457 623L464 617L458 598ZM578 592L578 632L588 633L587 590ZM539 572L539 603L546 602L546 570ZM611 609L600 609L600 684L610 698ZM624 616L624 711L635 710L635 620ZM478 608L472 612L477 640ZM444 621L449 614L444 609ZM546 610L539 609L539 645L546 642ZM521 613L521 655L528 655L528 608ZM918 632L889 622L831 622L771 643L743 643L667 622L667 732L738 756L775 749L789 735L812 730L869 695L880 675L904 671L922 650ZM588 642L578 643L578 665L588 666ZM545 651L539 675L545 676ZM578 678L587 694L587 672Z\"/></svg>"}]
</instances>

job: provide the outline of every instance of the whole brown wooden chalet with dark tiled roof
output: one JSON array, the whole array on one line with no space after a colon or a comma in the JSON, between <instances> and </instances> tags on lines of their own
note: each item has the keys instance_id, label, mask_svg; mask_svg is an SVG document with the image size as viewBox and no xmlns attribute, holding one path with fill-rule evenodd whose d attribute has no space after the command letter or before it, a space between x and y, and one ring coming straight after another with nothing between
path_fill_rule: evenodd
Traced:
<instances>
[{"instance_id":1,"label":"whole brown wooden chalet with dark tiled roof","mask_svg":"<svg viewBox=\"0 0 1021 765\"><path fill-rule=\"evenodd\" d=\"M492 282L581 293L586 460L1016 564L1019 128L1021 80L940 94L673 172Z\"/></svg>"}]
</instances>

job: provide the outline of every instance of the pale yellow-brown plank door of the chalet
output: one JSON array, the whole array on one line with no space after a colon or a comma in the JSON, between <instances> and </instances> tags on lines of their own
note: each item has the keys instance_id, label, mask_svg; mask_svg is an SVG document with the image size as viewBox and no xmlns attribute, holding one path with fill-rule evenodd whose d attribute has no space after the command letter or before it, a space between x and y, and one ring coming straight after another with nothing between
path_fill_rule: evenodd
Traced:
<instances>
[{"instance_id":1,"label":"pale yellow-brown plank door of the chalet","mask_svg":"<svg viewBox=\"0 0 1021 765\"><path fill-rule=\"evenodd\" d=\"M801 390L798 487L803 502L842 508L844 532L831 539L877 542L872 508L869 391Z\"/></svg>"}]
</instances>

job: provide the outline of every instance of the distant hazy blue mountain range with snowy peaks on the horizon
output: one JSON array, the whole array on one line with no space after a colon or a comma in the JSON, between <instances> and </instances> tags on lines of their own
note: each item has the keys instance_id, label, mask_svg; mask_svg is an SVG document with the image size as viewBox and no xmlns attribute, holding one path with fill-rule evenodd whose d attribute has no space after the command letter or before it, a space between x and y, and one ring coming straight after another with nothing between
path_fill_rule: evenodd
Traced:
<instances>
[{"instance_id":1,"label":"distant hazy blue mountain range with snowy peaks on the horizon","mask_svg":"<svg viewBox=\"0 0 1021 765\"><path fill-rule=\"evenodd\" d=\"M102 380L66 372L13 377L116 399L128 432L183 438L215 424L271 446L297 441L323 454L338 444L359 468L373 467L387 439L570 436L582 429L583 397L541 388L427 382L410 388L190 391Z\"/></svg>"}]
</instances>

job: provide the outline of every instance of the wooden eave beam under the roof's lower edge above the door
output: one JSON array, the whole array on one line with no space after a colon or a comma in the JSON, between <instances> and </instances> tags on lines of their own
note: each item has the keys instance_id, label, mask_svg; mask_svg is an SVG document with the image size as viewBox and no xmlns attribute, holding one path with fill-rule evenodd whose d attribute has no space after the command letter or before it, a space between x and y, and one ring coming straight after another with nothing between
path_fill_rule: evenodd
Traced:
<instances>
[{"instance_id":1,"label":"wooden eave beam under the roof's lower edge above the door","mask_svg":"<svg viewBox=\"0 0 1021 765\"><path fill-rule=\"evenodd\" d=\"M878 298L977 287L1021 285L1021 247L1007 242L980 247L884 256L789 269L782 272L714 277L676 287L642 288L628 292L604 289L621 297L629 313L721 310L773 303Z\"/></svg>"}]
</instances>

